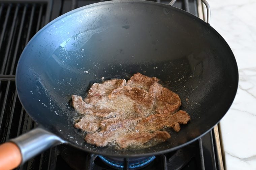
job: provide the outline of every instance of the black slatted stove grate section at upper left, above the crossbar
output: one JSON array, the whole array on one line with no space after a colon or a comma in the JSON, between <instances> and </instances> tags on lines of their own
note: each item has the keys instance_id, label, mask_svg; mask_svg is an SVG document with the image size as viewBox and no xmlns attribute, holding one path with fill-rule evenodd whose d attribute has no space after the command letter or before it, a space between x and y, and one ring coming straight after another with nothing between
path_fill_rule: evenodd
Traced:
<instances>
[{"instance_id":1,"label":"black slatted stove grate section at upper left, above the crossbar","mask_svg":"<svg viewBox=\"0 0 256 170\"><path fill-rule=\"evenodd\" d=\"M4 2L0 1L0 76L14 77L22 50L46 22L47 4Z\"/></svg>"}]
</instances>

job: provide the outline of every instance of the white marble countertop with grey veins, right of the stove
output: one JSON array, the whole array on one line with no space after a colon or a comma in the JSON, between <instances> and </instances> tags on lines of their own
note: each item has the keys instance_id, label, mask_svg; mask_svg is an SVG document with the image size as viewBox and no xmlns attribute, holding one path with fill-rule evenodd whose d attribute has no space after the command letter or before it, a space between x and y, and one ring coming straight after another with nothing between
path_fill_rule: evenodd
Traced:
<instances>
[{"instance_id":1,"label":"white marble countertop with grey veins, right of the stove","mask_svg":"<svg viewBox=\"0 0 256 170\"><path fill-rule=\"evenodd\" d=\"M220 122L227 170L256 169L256 0L207 0L211 26L231 47L239 70L234 102Z\"/></svg>"}]
</instances>

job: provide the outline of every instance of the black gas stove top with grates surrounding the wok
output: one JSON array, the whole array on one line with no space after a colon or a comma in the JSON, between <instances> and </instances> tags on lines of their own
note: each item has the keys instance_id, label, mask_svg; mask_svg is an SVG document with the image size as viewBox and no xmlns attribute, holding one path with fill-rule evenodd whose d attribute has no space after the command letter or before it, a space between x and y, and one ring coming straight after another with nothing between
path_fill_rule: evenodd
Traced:
<instances>
[{"instance_id":1,"label":"black gas stove top with grates surrounding the wok","mask_svg":"<svg viewBox=\"0 0 256 170\"><path fill-rule=\"evenodd\" d=\"M23 109L15 90L15 69L22 50L33 35L56 17L77 7L103 0L0 0L0 143L33 129L36 124ZM156 0L168 4L170 0ZM197 0L177 0L175 7L198 16ZM138 167L148 161L146 170L219 169L214 130L178 151L152 158L103 161L97 155L58 145L32 158L17 169L107 170L112 166L124 169ZM140 163L139 163L140 162ZM146 163L145 163L146 164ZM143 164L144 165L144 164Z\"/></svg>"}]
</instances>

